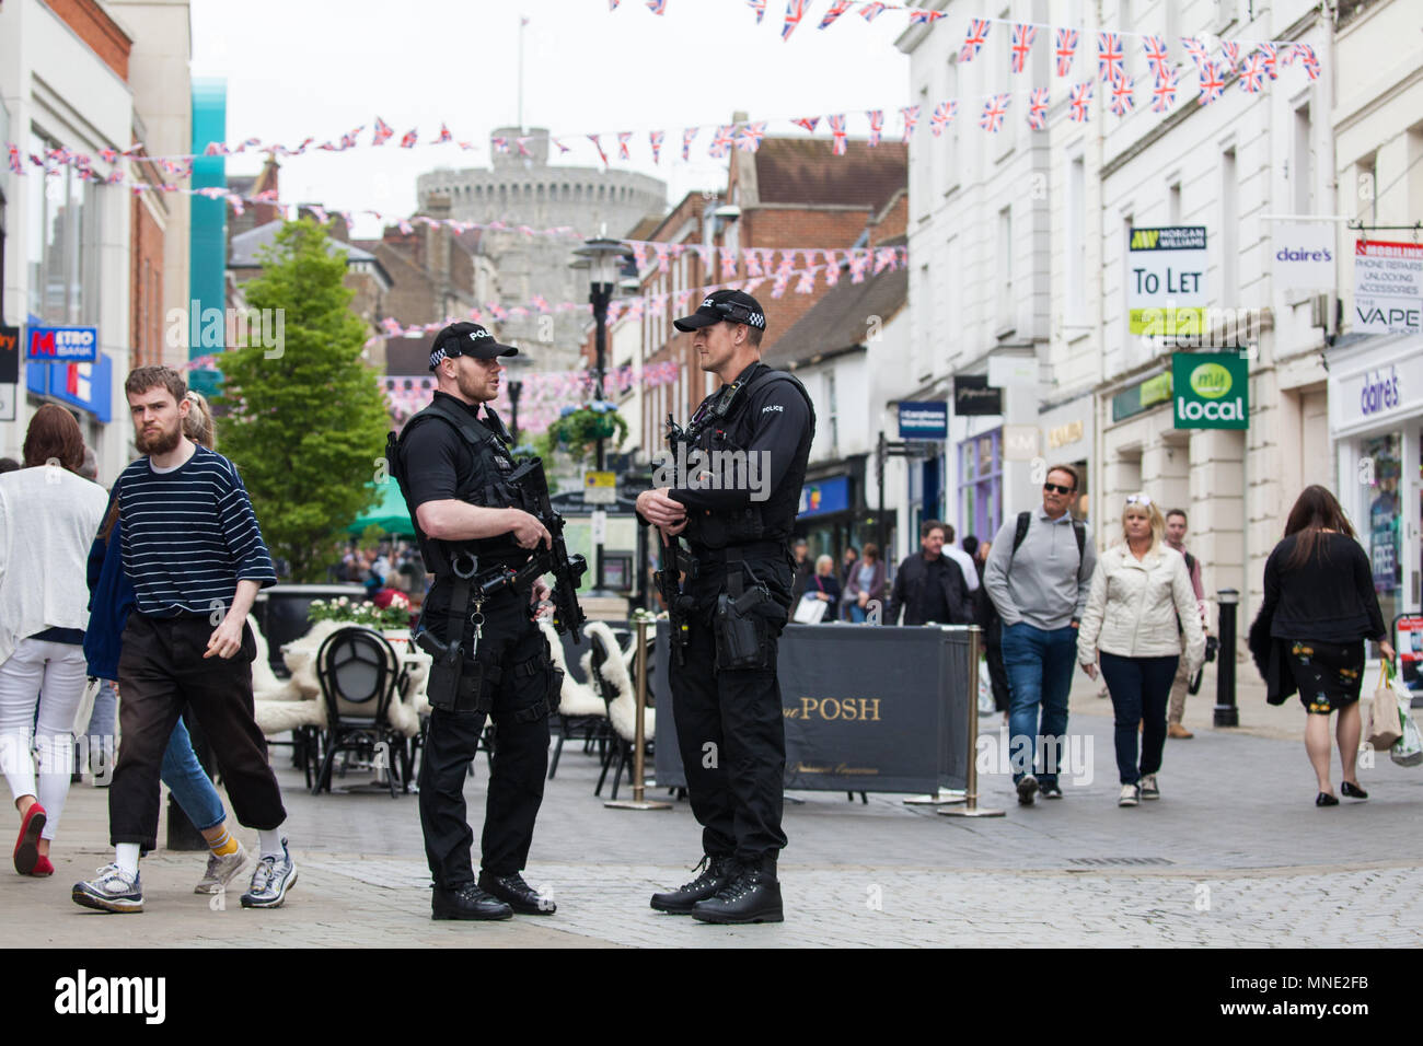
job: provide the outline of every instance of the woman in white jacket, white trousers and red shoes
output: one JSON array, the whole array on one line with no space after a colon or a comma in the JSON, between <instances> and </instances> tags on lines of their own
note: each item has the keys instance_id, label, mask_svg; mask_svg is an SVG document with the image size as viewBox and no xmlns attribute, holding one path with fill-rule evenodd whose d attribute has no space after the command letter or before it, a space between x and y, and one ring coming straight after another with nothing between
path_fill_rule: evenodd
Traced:
<instances>
[{"instance_id":1,"label":"woman in white jacket, white trousers and red shoes","mask_svg":"<svg viewBox=\"0 0 1423 1046\"><path fill-rule=\"evenodd\" d=\"M24 468L0 475L0 766L20 811L21 875L54 871L50 841L74 764L87 675L84 565L108 502L78 475L83 463L78 423L47 403L26 431Z\"/></svg>"}]
</instances>

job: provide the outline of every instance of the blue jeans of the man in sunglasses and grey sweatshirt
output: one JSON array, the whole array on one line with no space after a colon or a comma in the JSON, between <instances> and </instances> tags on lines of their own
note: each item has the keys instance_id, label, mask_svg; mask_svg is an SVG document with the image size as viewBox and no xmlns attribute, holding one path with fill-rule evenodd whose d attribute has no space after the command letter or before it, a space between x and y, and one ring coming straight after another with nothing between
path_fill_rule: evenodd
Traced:
<instances>
[{"instance_id":1,"label":"blue jeans of the man in sunglasses and grey sweatshirt","mask_svg":"<svg viewBox=\"0 0 1423 1046\"><path fill-rule=\"evenodd\" d=\"M1022 620L1005 625L1002 650L1012 699L1007 760L1013 783L1017 784L1030 766L1039 783L1057 784L1057 767L1067 754L1067 692L1077 660L1077 629L1064 625L1049 632Z\"/></svg>"}]
</instances>

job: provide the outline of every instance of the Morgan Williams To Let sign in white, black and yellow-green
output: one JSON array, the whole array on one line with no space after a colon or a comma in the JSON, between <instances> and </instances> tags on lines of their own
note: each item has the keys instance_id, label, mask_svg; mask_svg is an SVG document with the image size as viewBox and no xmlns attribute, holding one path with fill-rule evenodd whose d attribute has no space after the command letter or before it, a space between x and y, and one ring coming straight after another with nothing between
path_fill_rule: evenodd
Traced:
<instances>
[{"instance_id":1,"label":"Morgan Williams To Let sign in white, black and yellow-green","mask_svg":"<svg viewBox=\"0 0 1423 1046\"><path fill-rule=\"evenodd\" d=\"M1205 323L1204 225L1131 229L1127 326L1133 334L1198 334Z\"/></svg>"}]
</instances>

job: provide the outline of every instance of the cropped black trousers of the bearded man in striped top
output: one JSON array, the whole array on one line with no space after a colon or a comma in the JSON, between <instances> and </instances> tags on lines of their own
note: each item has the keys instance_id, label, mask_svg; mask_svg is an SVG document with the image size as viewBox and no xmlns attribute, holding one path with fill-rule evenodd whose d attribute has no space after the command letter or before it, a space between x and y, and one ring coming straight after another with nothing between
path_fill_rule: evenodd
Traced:
<instances>
[{"instance_id":1,"label":"cropped black trousers of the bearded man in striped top","mask_svg":"<svg viewBox=\"0 0 1423 1046\"><path fill-rule=\"evenodd\" d=\"M232 813L248 828L270 830L286 820L282 791L266 759L266 739L252 717L252 628L229 659L203 657L213 625L206 618L145 618L137 611L124 629L118 659L118 766L108 790L110 841L158 845L158 774L168 739L192 706Z\"/></svg>"}]
</instances>

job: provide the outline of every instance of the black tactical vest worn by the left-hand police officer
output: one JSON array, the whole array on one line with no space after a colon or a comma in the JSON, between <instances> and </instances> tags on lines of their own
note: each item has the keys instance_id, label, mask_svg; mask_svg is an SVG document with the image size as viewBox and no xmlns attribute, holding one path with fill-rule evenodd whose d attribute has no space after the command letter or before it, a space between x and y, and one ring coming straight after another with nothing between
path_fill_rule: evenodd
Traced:
<instances>
[{"instance_id":1,"label":"black tactical vest worn by the left-hand police officer","mask_svg":"<svg viewBox=\"0 0 1423 1046\"><path fill-rule=\"evenodd\" d=\"M425 561L425 569L434 575L450 574L451 561L461 552L470 552L480 558L481 566L492 566L508 561L522 561L528 552L521 549L511 534L501 534L495 538L478 538L474 541L437 541L420 529L420 521L414 509L410 508L410 490L406 487L406 440L418 424L428 424L438 420L453 426L468 445L474 458L472 468L458 477L455 492L460 501L481 508L509 508L517 504L514 491L507 480L514 471L514 458L509 457L508 444L512 443L499 416L485 407L488 423L474 417L472 413L461 410L454 404L438 398L416 414L400 431L397 440L394 433L386 437L386 461L390 474L400 484L400 492L406 498L406 508L410 511L410 522L416 528L416 539L420 544L420 555Z\"/></svg>"}]
</instances>

